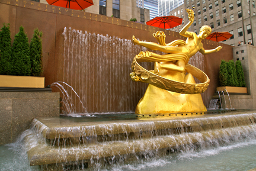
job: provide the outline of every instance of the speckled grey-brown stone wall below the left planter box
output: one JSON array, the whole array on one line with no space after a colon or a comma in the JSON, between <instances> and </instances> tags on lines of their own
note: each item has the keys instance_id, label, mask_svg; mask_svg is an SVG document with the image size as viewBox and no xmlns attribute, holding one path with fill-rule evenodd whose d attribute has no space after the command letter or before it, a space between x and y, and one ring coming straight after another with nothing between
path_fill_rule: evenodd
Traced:
<instances>
[{"instance_id":1,"label":"speckled grey-brown stone wall below the left planter box","mask_svg":"<svg viewBox=\"0 0 256 171\"><path fill-rule=\"evenodd\" d=\"M36 117L59 116L59 93L0 92L0 145L13 143Z\"/></svg>"}]
</instances>

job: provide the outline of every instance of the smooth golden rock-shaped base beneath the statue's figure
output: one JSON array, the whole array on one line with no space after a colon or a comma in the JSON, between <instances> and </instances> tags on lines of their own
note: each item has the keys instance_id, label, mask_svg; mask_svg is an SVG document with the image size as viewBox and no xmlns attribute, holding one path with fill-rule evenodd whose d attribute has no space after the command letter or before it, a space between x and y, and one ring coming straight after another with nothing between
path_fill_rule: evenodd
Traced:
<instances>
[{"instance_id":1,"label":"smooth golden rock-shaped base beneath the statue's figure","mask_svg":"<svg viewBox=\"0 0 256 171\"><path fill-rule=\"evenodd\" d=\"M184 73L161 69L159 76L184 82ZM187 83L194 82L193 76L188 77ZM200 93L181 94L177 92L166 91L149 84L145 95L137 104L136 114L169 114L176 112L199 112L207 111L203 104Z\"/></svg>"}]
</instances>

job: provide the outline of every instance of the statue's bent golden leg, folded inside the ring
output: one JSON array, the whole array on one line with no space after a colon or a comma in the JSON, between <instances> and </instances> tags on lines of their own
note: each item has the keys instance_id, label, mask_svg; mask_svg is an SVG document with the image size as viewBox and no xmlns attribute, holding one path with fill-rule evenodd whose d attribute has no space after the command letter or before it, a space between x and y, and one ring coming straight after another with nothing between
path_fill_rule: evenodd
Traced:
<instances>
[{"instance_id":1,"label":"statue's bent golden leg, folded inside the ring","mask_svg":"<svg viewBox=\"0 0 256 171\"><path fill-rule=\"evenodd\" d=\"M184 72L185 68L185 62L184 60L177 60L176 63L172 62L163 62L163 63L158 63L155 62L155 68L154 68L154 73L158 74L160 69L167 69L167 70L175 70L178 72Z\"/></svg>"}]
</instances>

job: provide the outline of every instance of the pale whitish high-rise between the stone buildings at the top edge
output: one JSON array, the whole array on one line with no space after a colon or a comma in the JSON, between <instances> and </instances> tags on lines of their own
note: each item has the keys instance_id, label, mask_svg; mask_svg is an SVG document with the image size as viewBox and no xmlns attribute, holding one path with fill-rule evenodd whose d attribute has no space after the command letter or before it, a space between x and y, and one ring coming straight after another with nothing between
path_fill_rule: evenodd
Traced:
<instances>
[{"instance_id":1,"label":"pale whitish high-rise between the stone buildings at the top edge","mask_svg":"<svg viewBox=\"0 0 256 171\"><path fill-rule=\"evenodd\" d=\"M158 0L159 16L167 16L170 11L184 4L184 0Z\"/></svg>"}]
</instances>

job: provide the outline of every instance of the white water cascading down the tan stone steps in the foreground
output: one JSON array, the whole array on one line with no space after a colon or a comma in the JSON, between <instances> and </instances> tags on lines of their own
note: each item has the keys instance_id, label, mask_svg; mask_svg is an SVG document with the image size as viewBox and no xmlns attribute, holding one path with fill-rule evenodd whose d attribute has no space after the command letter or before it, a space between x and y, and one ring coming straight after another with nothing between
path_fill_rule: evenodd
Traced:
<instances>
[{"instance_id":1,"label":"white water cascading down the tan stone steps in the foreground","mask_svg":"<svg viewBox=\"0 0 256 171\"><path fill-rule=\"evenodd\" d=\"M87 167L91 167L90 170L168 170L170 165L174 167L171 167L172 170L175 170L175 166L191 170L196 169L194 165L191 167L191 160L200 163L204 159L201 169L211 167L209 170L217 170L220 166L214 167L209 161L222 158L223 153L231 153L232 156L235 153L232 149L241 148L249 150L249 153L242 157L243 162L247 159L246 164L240 165L246 165L247 170L256 167L253 164L253 155L256 154L256 150L253 150L256 147L255 113L79 124L87 120L86 117L77 120L67 120L66 117L34 120L31 130L25 131L16 143L9 145L17 154L15 160L23 162L4 160L6 162L0 164L1 169L40 170L36 166L28 167L27 162L36 164L41 161L52 163L41 166L41 169L53 170L87 170ZM47 122L52 123L50 127L44 124ZM65 124L69 127L60 127ZM51 127L55 131L51 131ZM252 149L248 149L249 146ZM33 153L36 156L31 159ZM21 154L24 159L20 159ZM43 158L40 159L40 156ZM186 163L183 163L184 160ZM226 160L222 163L219 161L222 165L225 163L221 170L245 170L241 166L232 167L238 161L230 163ZM181 163L183 166L180 166Z\"/></svg>"}]
</instances>

